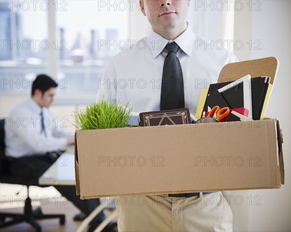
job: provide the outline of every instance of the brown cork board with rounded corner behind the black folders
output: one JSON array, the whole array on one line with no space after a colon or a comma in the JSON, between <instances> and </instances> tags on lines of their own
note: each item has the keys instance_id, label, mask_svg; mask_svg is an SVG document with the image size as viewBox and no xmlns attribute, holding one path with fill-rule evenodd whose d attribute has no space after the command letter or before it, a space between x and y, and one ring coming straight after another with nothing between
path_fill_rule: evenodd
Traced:
<instances>
[{"instance_id":1,"label":"brown cork board with rounded corner behind the black folders","mask_svg":"<svg viewBox=\"0 0 291 232\"><path fill-rule=\"evenodd\" d=\"M273 85L278 67L279 61L275 57L230 63L221 69L218 82L235 81L249 74L251 77L270 76Z\"/></svg>"}]
</instances>

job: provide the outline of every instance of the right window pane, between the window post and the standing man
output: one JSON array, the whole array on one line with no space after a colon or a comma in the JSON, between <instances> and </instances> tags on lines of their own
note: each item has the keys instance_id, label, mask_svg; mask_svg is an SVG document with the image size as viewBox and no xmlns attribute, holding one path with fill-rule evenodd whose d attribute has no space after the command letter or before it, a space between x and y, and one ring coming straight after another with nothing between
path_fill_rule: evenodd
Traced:
<instances>
[{"instance_id":1,"label":"right window pane, between the window post and the standing man","mask_svg":"<svg viewBox=\"0 0 291 232\"><path fill-rule=\"evenodd\" d=\"M124 48L129 37L126 1L58 1L56 34L58 78L66 83L64 94L92 94L107 61Z\"/></svg>"}]
</instances>

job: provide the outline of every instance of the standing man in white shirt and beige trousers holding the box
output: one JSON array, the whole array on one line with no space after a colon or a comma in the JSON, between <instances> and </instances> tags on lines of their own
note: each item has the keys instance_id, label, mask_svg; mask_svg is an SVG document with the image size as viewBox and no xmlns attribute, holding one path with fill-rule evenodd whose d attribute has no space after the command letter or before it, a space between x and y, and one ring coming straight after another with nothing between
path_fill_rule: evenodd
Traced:
<instances>
[{"instance_id":1,"label":"standing man in white shirt and beige trousers holding the box","mask_svg":"<svg viewBox=\"0 0 291 232\"><path fill-rule=\"evenodd\" d=\"M193 33L186 21L190 0L140 0L140 6L152 31L109 61L98 83L97 101L103 96L115 103L130 100L137 113L160 110L166 45L174 41L179 47L184 107L194 114L201 90L215 83L222 67L237 58L206 46L210 41ZM123 200L126 203L117 201L118 231L232 230L232 213L221 192L145 198L145 204L130 197Z\"/></svg>"}]
</instances>

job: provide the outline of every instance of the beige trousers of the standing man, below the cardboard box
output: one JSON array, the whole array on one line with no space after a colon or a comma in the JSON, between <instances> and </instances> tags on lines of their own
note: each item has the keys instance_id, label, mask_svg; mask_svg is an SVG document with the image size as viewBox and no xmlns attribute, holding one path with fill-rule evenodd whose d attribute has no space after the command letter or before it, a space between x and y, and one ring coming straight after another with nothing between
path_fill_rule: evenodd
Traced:
<instances>
[{"instance_id":1,"label":"beige trousers of the standing man, below the cardboard box","mask_svg":"<svg viewBox=\"0 0 291 232\"><path fill-rule=\"evenodd\" d=\"M232 231L232 212L221 192L191 198L118 197L116 208L119 232Z\"/></svg>"}]
</instances>

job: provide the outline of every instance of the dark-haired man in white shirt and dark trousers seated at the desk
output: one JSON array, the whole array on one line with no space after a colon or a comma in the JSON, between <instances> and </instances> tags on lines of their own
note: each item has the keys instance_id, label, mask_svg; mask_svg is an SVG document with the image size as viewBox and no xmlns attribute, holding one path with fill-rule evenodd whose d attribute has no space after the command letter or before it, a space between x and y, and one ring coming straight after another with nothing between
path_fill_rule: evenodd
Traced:
<instances>
[{"instance_id":1,"label":"dark-haired man in white shirt and dark trousers seated at the desk","mask_svg":"<svg viewBox=\"0 0 291 232\"><path fill-rule=\"evenodd\" d=\"M74 133L61 128L49 110L57 86L49 76L38 75L32 83L31 98L18 104L8 117L4 126L6 156L17 158L10 166L15 176L38 179L59 157L52 151L74 144ZM81 200L76 195L76 186L54 187L86 216L100 204L99 199ZM93 231L104 218L100 212L89 225L89 231ZM109 226L113 224L108 225L106 231Z\"/></svg>"}]
</instances>

